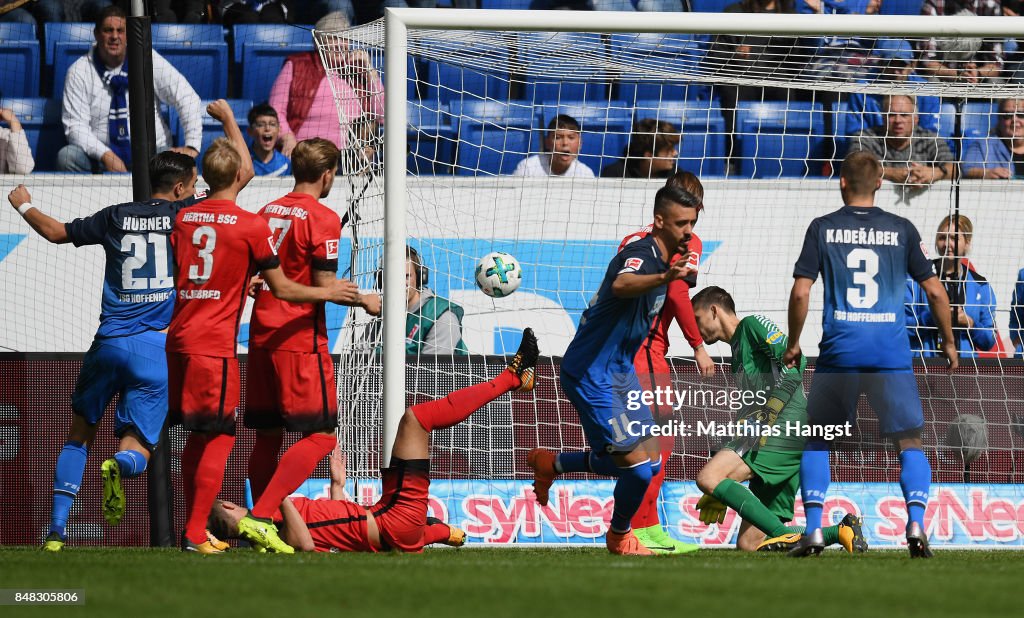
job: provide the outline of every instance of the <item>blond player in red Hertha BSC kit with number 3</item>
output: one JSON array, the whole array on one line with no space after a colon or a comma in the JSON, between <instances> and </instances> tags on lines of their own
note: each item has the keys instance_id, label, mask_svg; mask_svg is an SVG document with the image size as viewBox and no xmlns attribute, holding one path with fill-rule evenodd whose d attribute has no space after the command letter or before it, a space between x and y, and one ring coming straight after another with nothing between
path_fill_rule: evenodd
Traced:
<instances>
[{"instance_id":1,"label":"blond player in red Hertha BSC kit with number 3","mask_svg":"<svg viewBox=\"0 0 1024 618\"><path fill-rule=\"evenodd\" d=\"M220 491L224 465L234 445L239 405L236 339L250 277L259 270L274 296L293 302L351 304L351 281L309 288L281 270L266 221L234 204L253 177L252 160L226 101L207 108L220 120L228 139L216 140L203 157L207 201L182 210L171 233L175 264L175 305L167 334L168 399L172 420L191 432L181 453L188 519L182 549L215 554L206 520ZM243 522L253 542L290 553L272 525Z\"/></svg>"}]
</instances>

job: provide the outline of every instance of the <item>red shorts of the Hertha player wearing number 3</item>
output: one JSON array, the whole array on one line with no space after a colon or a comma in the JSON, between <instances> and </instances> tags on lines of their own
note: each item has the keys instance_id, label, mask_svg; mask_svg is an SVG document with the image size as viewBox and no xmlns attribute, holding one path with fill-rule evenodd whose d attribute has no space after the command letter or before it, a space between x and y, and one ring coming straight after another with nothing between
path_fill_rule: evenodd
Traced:
<instances>
[{"instance_id":1,"label":"red shorts of the Hertha player wearing number 3","mask_svg":"<svg viewBox=\"0 0 1024 618\"><path fill-rule=\"evenodd\" d=\"M238 358L167 352L171 425L233 436L240 394Z\"/></svg>"}]
</instances>

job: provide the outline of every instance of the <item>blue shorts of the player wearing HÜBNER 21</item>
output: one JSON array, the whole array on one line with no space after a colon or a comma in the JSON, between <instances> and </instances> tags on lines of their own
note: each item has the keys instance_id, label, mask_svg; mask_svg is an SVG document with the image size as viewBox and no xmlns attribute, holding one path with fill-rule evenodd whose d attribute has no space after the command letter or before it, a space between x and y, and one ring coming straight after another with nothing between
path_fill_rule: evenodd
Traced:
<instances>
[{"instance_id":1,"label":"blue shorts of the player wearing H\u00dcBNER 21","mask_svg":"<svg viewBox=\"0 0 1024 618\"><path fill-rule=\"evenodd\" d=\"M167 335L156 330L94 340L71 396L75 413L95 425L120 395L114 433L120 438L134 429L153 450L167 418L166 341Z\"/></svg>"}]
</instances>

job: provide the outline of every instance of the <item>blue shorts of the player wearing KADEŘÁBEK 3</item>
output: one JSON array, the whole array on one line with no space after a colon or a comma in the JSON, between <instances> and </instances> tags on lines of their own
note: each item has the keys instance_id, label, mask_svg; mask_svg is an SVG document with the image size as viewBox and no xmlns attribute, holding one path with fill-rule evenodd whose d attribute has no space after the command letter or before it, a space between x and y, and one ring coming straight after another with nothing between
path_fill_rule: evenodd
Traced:
<instances>
[{"instance_id":1,"label":"blue shorts of the player wearing KADE\u0158\u00c1BEK 3","mask_svg":"<svg viewBox=\"0 0 1024 618\"><path fill-rule=\"evenodd\" d=\"M918 381L911 369L841 369L815 367L807 396L811 425L839 425L857 417L860 394L879 417L884 436L895 436L925 427Z\"/></svg>"}]
</instances>

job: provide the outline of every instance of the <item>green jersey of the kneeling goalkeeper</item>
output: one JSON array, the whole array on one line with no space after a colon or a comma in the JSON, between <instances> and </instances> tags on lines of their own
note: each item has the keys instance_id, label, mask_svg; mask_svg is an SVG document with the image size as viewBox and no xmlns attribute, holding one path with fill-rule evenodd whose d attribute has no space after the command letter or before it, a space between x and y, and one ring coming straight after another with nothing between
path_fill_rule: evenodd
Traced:
<instances>
[{"instance_id":1,"label":"green jersey of the kneeling goalkeeper","mask_svg":"<svg viewBox=\"0 0 1024 618\"><path fill-rule=\"evenodd\" d=\"M782 401L782 411L775 420L781 432L761 446L769 450L799 453L805 439L786 432L787 422L807 422L807 398L804 397L803 372L807 359L801 356L799 367L786 367L782 354L788 342L775 322L763 315L749 315L739 320L729 345L732 347L732 374L736 388L752 393L755 403L739 410L739 415L763 407L762 402L775 397Z\"/></svg>"}]
</instances>

